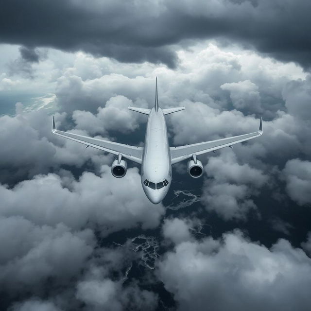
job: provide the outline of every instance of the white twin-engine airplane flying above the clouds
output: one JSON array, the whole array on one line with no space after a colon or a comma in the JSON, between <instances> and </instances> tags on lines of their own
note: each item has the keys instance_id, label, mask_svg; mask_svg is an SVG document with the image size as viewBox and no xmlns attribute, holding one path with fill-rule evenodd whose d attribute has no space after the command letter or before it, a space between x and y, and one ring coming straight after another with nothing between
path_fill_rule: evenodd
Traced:
<instances>
[{"instance_id":1,"label":"white twin-engine airplane flying above the clouds","mask_svg":"<svg viewBox=\"0 0 311 311\"><path fill-rule=\"evenodd\" d=\"M111 173L121 178L127 171L127 160L141 164L141 184L148 199L158 204L166 196L172 182L172 165L189 159L188 173L193 178L203 174L203 165L197 159L198 155L206 154L236 143L253 139L262 135L262 119L258 132L222 138L196 144L170 147L167 136L165 115L184 110L185 107L161 109L157 100L157 80L155 80L155 106L152 109L129 106L128 109L148 115L144 147L129 146L100 138L90 138L83 135L59 131L55 127L53 116L52 133L82 144L117 155L112 162Z\"/></svg>"}]
</instances>

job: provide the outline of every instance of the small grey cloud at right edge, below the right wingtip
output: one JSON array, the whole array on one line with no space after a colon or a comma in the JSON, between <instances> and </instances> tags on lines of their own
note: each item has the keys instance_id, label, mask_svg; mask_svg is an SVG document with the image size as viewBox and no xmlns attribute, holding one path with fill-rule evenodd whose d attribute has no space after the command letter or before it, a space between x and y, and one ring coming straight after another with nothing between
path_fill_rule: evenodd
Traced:
<instances>
[{"instance_id":1,"label":"small grey cloud at right edge, below the right wingtip","mask_svg":"<svg viewBox=\"0 0 311 311\"><path fill-rule=\"evenodd\" d=\"M311 203L311 162L300 159L288 160L282 171L286 191L299 205Z\"/></svg>"}]
</instances>

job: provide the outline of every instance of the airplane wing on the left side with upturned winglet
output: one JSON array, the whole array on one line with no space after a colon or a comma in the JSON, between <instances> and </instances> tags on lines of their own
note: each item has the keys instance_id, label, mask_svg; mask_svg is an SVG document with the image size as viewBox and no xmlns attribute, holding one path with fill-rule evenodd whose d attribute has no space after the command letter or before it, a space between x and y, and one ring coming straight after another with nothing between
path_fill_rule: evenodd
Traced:
<instances>
[{"instance_id":1,"label":"airplane wing on the left side with upturned winglet","mask_svg":"<svg viewBox=\"0 0 311 311\"><path fill-rule=\"evenodd\" d=\"M59 131L55 127L54 116L52 121L52 133L73 141L80 142L82 144L85 144L86 146L91 146L96 149L103 150L113 155L121 154L124 158L141 164L143 154L142 147L129 146L100 138L91 138L83 135Z\"/></svg>"}]
</instances>

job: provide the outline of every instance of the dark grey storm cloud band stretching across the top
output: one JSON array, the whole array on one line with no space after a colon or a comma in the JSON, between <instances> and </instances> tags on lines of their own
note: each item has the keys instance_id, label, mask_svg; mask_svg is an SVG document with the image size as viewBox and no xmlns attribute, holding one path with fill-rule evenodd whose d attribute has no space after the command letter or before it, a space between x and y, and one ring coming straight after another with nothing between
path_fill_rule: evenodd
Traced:
<instances>
[{"instance_id":1,"label":"dark grey storm cloud band stretching across the top","mask_svg":"<svg viewBox=\"0 0 311 311\"><path fill-rule=\"evenodd\" d=\"M310 68L310 1L4 0L0 40L176 64L174 44L223 38Z\"/></svg>"}]
</instances>

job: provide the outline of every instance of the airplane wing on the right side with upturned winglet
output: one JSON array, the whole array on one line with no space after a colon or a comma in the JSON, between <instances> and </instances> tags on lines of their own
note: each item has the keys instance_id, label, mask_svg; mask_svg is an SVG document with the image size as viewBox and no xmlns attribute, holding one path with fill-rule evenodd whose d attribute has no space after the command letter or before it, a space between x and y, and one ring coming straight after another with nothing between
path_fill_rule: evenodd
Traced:
<instances>
[{"instance_id":1,"label":"airplane wing on the right side with upturned winglet","mask_svg":"<svg viewBox=\"0 0 311 311\"><path fill-rule=\"evenodd\" d=\"M224 147L231 147L231 145L237 144L239 142L253 139L262 135L262 118L260 118L259 130L258 132L244 134L234 137L222 138L211 141L203 141L196 144L180 146L180 147L170 147L171 151L171 161L172 164L178 163L185 159L190 158L192 155L203 155L207 152L221 149Z\"/></svg>"}]
</instances>

